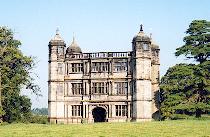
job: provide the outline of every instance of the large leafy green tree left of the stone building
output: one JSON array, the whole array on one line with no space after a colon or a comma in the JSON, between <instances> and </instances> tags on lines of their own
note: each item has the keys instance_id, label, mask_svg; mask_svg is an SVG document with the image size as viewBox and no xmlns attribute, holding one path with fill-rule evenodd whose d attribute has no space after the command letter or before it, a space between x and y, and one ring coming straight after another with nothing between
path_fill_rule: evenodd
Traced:
<instances>
[{"instance_id":1,"label":"large leafy green tree left of the stone building","mask_svg":"<svg viewBox=\"0 0 210 137\"><path fill-rule=\"evenodd\" d=\"M25 56L20 45L10 29L0 27L1 109L6 122L22 121L31 115L30 99L20 94L22 88L35 94L40 91L31 77L35 65L33 58Z\"/></svg>"}]
</instances>

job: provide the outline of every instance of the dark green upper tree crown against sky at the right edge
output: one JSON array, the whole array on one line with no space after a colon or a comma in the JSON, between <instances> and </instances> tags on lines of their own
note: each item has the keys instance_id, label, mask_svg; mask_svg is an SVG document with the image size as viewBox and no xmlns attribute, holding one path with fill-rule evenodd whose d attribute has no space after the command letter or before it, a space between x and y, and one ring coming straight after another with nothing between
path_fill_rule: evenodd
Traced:
<instances>
[{"instance_id":1,"label":"dark green upper tree crown against sky at the right edge","mask_svg":"<svg viewBox=\"0 0 210 137\"><path fill-rule=\"evenodd\" d=\"M210 22L194 20L186 31L185 45L176 49L176 56L184 55L203 63L210 59Z\"/></svg>"}]
</instances>

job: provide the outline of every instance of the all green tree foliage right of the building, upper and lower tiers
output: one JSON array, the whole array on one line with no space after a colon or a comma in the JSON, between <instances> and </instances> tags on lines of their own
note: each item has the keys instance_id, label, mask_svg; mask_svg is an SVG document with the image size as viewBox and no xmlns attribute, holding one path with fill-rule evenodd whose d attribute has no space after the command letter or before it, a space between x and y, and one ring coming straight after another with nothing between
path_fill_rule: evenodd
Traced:
<instances>
[{"instance_id":1,"label":"all green tree foliage right of the building, upper and lower tiers","mask_svg":"<svg viewBox=\"0 0 210 137\"><path fill-rule=\"evenodd\" d=\"M162 77L161 112L165 118L177 113L201 117L210 111L210 22L192 21L186 33L185 45L175 55L194 58L197 63L177 64Z\"/></svg>"}]
</instances>

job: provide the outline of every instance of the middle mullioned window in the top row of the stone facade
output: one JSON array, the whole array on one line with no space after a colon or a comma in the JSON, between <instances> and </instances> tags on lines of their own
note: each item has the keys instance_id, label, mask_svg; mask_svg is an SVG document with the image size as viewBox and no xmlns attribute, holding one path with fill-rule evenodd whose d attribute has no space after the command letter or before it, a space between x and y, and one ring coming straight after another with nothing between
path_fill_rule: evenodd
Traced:
<instances>
[{"instance_id":1,"label":"middle mullioned window in the top row of the stone facade","mask_svg":"<svg viewBox=\"0 0 210 137\"><path fill-rule=\"evenodd\" d=\"M93 72L108 72L108 62L93 62L92 71Z\"/></svg>"}]
</instances>

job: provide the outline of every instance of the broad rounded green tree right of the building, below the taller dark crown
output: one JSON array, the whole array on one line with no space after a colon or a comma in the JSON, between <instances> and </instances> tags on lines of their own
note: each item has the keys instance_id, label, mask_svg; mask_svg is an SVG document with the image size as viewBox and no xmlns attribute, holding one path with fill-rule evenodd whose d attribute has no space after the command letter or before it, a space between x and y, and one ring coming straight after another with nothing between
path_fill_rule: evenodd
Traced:
<instances>
[{"instance_id":1,"label":"broad rounded green tree right of the building, below the taller dark crown","mask_svg":"<svg viewBox=\"0 0 210 137\"><path fill-rule=\"evenodd\" d=\"M164 117L173 118L175 113L196 114L210 110L209 70L195 64L177 64L168 69L161 79Z\"/></svg>"}]
</instances>

